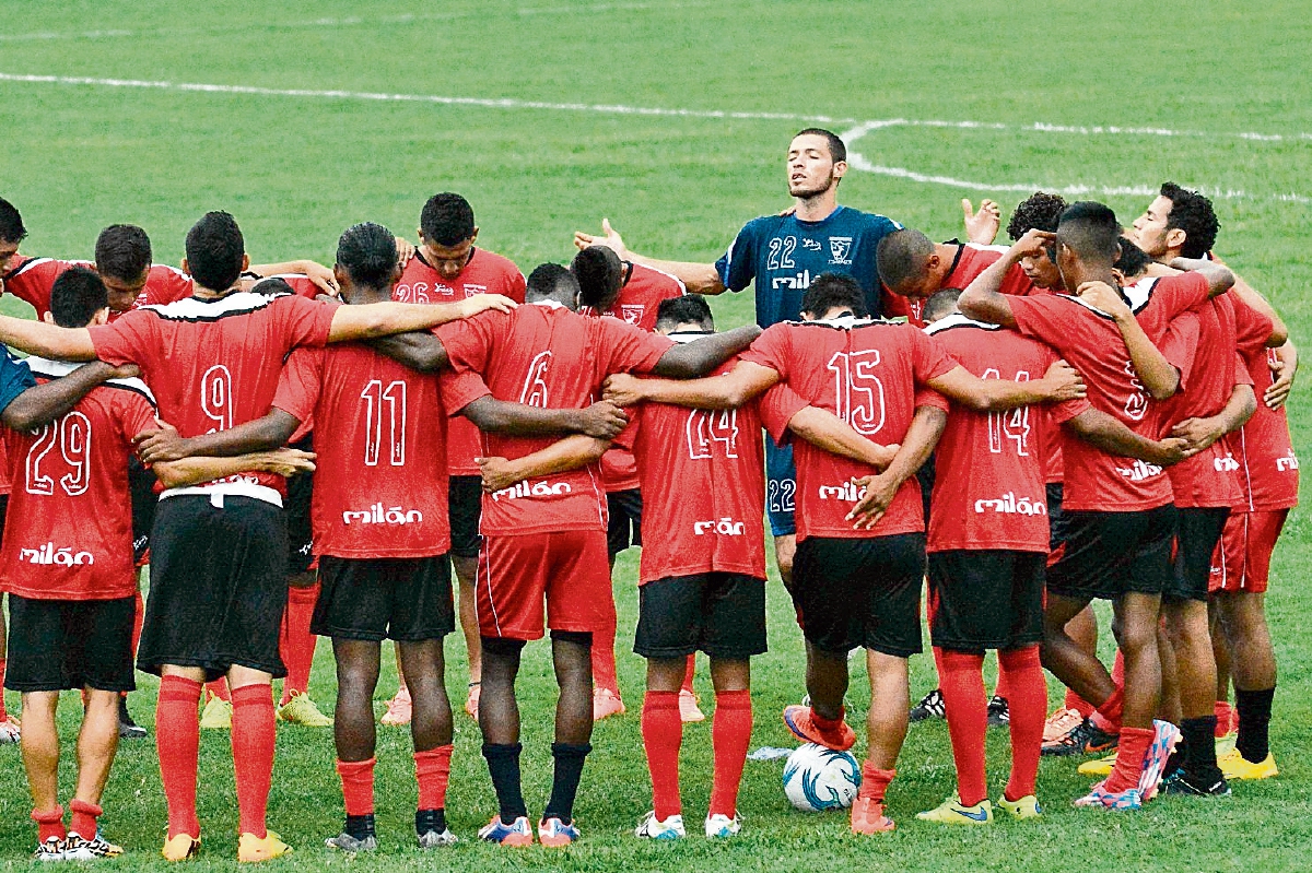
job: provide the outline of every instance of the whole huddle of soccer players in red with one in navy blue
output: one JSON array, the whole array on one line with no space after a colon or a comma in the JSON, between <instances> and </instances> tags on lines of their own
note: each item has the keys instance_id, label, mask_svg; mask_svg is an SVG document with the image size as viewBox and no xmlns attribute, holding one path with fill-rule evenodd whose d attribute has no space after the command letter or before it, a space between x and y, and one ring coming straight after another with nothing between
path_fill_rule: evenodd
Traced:
<instances>
[{"instance_id":1,"label":"whole huddle of soccer players in red with one in navy blue","mask_svg":"<svg viewBox=\"0 0 1312 873\"><path fill-rule=\"evenodd\" d=\"M290 851L266 827L278 718L332 726L345 823L327 845L377 849L384 640L416 840L455 843L443 640L458 624L499 807L479 838L579 840L593 724L625 712L611 573L630 545L652 786L635 832L686 836L678 763L684 724L705 718L702 651L705 832L732 838L750 659L766 651L762 515L806 641L806 699L782 713L800 741L855 745L844 697L866 650L853 832L895 827L888 788L921 717L946 717L956 767L954 796L917 814L929 822L993 821L991 722L1012 741L996 805L1018 819L1042 817L1043 754L1101 752L1075 804L1114 810L1274 776L1263 599L1298 497L1296 353L1212 254L1211 202L1166 182L1124 228L1107 206L1039 193L1009 248L992 245L997 206L966 203L970 241L935 244L837 203L846 149L829 131L798 134L786 168L792 208L748 223L714 265L639 256L607 222L575 233L568 266L527 278L475 245L458 194L424 204L416 245L352 225L331 270L251 265L227 212L192 227L181 270L152 265L125 224L93 262L33 258L0 199L3 291L38 316L0 316L0 342L30 355L0 360L0 671L24 707L21 731L3 712L0 731L21 733L37 857L122 853L98 817L119 737L144 735L126 709L134 666L160 678L165 859L201 848L202 724L231 730L239 860ZM749 286L757 325L716 332L705 296ZM926 590L939 687L913 708ZM1115 613L1113 670L1096 599ZM534 827L516 686L547 632L559 699ZM318 636L337 667L331 720L304 693ZM1069 689L1051 716L1044 670ZM73 688L66 824L55 712Z\"/></svg>"}]
</instances>

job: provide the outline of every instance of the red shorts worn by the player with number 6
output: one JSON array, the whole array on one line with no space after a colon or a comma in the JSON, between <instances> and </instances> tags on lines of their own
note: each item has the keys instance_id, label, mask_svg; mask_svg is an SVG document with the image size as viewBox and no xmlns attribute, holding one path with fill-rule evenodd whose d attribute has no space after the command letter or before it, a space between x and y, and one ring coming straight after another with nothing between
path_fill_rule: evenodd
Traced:
<instances>
[{"instance_id":1,"label":"red shorts worn by the player with number 6","mask_svg":"<svg viewBox=\"0 0 1312 873\"><path fill-rule=\"evenodd\" d=\"M484 536L474 589L485 637L541 640L543 607L552 630L615 623L605 531Z\"/></svg>"}]
</instances>

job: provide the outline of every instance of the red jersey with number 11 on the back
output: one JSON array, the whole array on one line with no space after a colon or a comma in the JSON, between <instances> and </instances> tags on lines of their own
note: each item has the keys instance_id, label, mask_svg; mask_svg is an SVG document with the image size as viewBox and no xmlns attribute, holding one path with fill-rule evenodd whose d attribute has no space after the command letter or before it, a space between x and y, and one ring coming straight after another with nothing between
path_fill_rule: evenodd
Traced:
<instances>
[{"instance_id":1,"label":"red jersey with number 11 on the back","mask_svg":"<svg viewBox=\"0 0 1312 873\"><path fill-rule=\"evenodd\" d=\"M437 376L369 346L291 353L273 405L312 419L315 554L412 558L451 548Z\"/></svg>"}]
</instances>

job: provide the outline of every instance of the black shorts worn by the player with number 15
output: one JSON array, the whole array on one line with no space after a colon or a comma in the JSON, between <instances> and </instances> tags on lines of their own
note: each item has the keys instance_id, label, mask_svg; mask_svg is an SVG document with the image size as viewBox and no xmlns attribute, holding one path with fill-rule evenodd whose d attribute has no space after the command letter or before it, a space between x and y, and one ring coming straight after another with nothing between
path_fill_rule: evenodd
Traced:
<instances>
[{"instance_id":1,"label":"black shorts worn by the player with number 15","mask_svg":"<svg viewBox=\"0 0 1312 873\"><path fill-rule=\"evenodd\" d=\"M907 658L921 650L925 535L807 537L792 560L802 633L824 651L857 646Z\"/></svg>"}]
</instances>

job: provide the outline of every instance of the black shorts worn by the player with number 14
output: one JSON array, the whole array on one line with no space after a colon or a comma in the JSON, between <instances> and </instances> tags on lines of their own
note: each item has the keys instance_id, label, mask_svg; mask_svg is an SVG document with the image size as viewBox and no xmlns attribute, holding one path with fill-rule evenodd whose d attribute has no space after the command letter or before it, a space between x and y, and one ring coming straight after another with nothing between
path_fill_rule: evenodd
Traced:
<instances>
[{"instance_id":1,"label":"black shorts worn by the player with number 14","mask_svg":"<svg viewBox=\"0 0 1312 873\"><path fill-rule=\"evenodd\" d=\"M1043 640L1044 552L929 553L929 638L941 649L1021 649Z\"/></svg>"}]
</instances>

